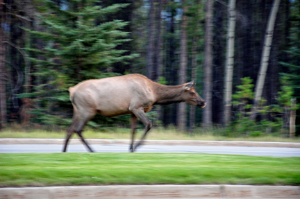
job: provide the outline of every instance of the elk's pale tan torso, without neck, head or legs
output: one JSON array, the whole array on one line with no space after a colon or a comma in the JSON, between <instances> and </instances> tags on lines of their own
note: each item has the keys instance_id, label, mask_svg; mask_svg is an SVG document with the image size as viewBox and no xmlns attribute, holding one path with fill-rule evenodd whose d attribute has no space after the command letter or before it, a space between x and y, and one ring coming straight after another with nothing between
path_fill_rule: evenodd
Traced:
<instances>
[{"instance_id":1,"label":"elk's pale tan torso, without neck, head or legs","mask_svg":"<svg viewBox=\"0 0 300 199\"><path fill-rule=\"evenodd\" d=\"M69 92L78 110L93 110L108 117L130 114L130 107L150 110L155 102L151 80L138 74L86 80L70 87Z\"/></svg>"}]
</instances>

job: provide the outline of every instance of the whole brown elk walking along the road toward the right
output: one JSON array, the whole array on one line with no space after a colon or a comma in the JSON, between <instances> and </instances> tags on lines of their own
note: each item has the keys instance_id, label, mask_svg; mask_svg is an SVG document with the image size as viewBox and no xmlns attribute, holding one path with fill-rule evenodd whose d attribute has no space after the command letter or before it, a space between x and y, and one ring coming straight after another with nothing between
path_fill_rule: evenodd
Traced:
<instances>
[{"instance_id":1,"label":"whole brown elk walking along the road toward the right","mask_svg":"<svg viewBox=\"0 0 300 199\"><path fill-rule=\"evenodd\" d=\"M153 105L186 102L190 105L205 107L206 102L194 90L195 83L168 86L155 83L140 74L129 74L111 78L85 80L69 88L70 100L74 108L72 124L67 129L63 152L73 133L76 133L83 144L94 152L82 136L85 124L98 112L106 117L131 114L130 151L142 144L152 123L147 118ZM144 123L144 134L138 144L134 145L135 128L138 119Z\"/></svg>"}]
</instances>

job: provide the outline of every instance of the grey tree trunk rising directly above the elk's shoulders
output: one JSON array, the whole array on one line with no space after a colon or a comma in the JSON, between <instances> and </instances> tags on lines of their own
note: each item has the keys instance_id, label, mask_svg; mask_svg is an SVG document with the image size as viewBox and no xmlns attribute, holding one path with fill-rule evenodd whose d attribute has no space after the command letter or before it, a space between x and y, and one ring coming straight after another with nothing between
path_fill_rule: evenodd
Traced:
<instances>
[{"instance_id":1,"label":"grey tree trunk rising directly above the elk's shoulders","mask_svg":"<svg viewBox=\"0 0 300 199\"><path fill-rule=\"evenodd\" d=\"M153 49L154 49L154 0L150 0L150 9L149 9L149 40L147 45L147 71L146 75L149 79L153 80L153 71L154 71L154 62L153 62Z\"/></svg>"}]
</instances>

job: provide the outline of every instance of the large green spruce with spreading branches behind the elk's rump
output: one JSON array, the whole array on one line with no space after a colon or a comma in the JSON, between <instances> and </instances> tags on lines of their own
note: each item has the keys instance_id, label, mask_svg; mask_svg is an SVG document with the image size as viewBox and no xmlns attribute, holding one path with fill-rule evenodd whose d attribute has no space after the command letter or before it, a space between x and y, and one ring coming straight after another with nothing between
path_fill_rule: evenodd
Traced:
<instances>
[{"instance_id":1,"label":"large green spruce with spreading branches behind the elk's rump","mask_svg":"<svg viewBox=\"0 0 300 199\"><path fill-rule=\"evenodd\" d=\"M67 124L69 121L62 118L71 115L69 87L87 79L116 76L110 72L110 65L136 56L122 55L125 51L116 49L128 41L128 32L122 31L128 22L106 17L128 4L103 8L96 6L95 0L67 0L60 6L50 0L38 2L40 25L46 31L27 31L32 37L42 38L44 47L42 51L26 50L31 52L39 83L33 93L23 97L35 99L35 121Z\"/></svg>"}]
</instances>

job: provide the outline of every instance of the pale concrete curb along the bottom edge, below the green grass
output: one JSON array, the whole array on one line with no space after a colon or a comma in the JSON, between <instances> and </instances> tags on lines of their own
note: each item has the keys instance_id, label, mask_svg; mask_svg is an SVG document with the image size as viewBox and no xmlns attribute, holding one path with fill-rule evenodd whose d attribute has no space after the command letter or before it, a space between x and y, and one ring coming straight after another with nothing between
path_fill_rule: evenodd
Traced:
<instances>
[{"instance_id":1,"label":"pale concrete curb along the bottom edge, below the green grass","mask_svg":"<svg viewBox=\"0 0 300 199\"><path fill-rule=\"evenodd\" d=\"M300 198L297 186L252 185L109 185L0 188L6 199L135 198Z\"/></svg>"}]
</instances>

